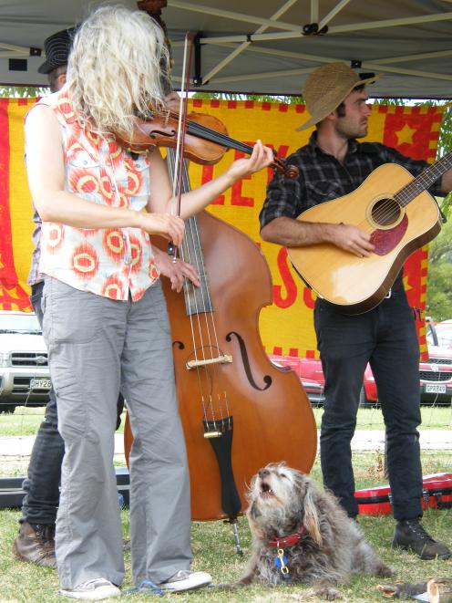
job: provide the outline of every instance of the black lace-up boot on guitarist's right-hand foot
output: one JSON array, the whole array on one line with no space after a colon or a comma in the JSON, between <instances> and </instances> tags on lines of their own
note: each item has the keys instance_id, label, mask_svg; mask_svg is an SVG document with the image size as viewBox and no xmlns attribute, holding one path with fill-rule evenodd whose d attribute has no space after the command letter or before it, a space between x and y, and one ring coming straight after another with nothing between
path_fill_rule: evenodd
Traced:
<instances>
[{"instance_id":1,"label":"black lace-up boot on guitarist's right-hand foot","mask_svg":"<svg viewBox=\"0 0 452 603\"><path fill-rule=\"evenodd\" d=\"M395 525L393 546L412 550L421 559L448 559L452 553L420 525L418 519L406 519Z\"/></svg>"}]
</instances>

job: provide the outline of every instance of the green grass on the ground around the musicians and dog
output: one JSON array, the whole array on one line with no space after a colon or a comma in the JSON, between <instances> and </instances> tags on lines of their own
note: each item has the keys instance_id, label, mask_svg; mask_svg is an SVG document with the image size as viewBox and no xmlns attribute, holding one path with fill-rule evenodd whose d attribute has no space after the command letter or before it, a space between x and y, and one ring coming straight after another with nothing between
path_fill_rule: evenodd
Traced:
<instances>
[{"instance_id":1,"label":"green grass on the ground around the musicians and dog","mask_svg":"<svg viewBox=\"0 0 452 603\"><path fill-rule=\"evenodd\" d=\"M319 421L321 409L315 410ZM429 421L424 429L450 429L452 425L450 408L423 409L424 421ZM0 415L0 436L33 435L42 421L42 409L17 409L15 414ZM123 421L124 422L124 421ZM381 412L375 409L359 411L358 429L382 429ZM423 451L422 462L424 474L452 471L451 451ZM0 475L5 474L5 467L0 463ZM354 452L354 472L356 487L365 488L387 484L384 473L384 457L380 452ZM313 466L313 477L321 483L318 461ZM23 474L23 472L21 473ZM63 598L57 591L56 571L39 568L15 559L11 553L11 545L18 528L18 510L0 510L0 603L53 603ZM128 535L128 510L122 512L124 535ZM452 546L452 509L427 509L424 517L426 529L448 546ZM392 550L390 543L394 530L391 516L361 515L362 525L367 539L375 546L385 562L395 568L395 578L381 579L370 577L354 577L351 584L342 587L344 601L353 603L382 603L385 598L377 591L378 584L395 581L420 581L430 577L451 577L452 559L447 561L421 561L416 556L404 551ZM221 521L192 524L192 548L195 557L193 569L211 572L215 583L230 582L241 576L249 553L250 534L246 520L239 518L241 545L245 556L235 552L231 526ZM130 553L126 553L126 578L124 587L130 584ZM304 601L309 595L307 587L249 587L237 592L221 591L215 588L194 591L190 594L166 595L165 599L178 603L202 601L229 603L235 601L262 603L276 601L289 603ZM121 601L149 600L143 596L121 596ZM318 601L317 598L309 600Z\"/></svg>"}]
</instances>

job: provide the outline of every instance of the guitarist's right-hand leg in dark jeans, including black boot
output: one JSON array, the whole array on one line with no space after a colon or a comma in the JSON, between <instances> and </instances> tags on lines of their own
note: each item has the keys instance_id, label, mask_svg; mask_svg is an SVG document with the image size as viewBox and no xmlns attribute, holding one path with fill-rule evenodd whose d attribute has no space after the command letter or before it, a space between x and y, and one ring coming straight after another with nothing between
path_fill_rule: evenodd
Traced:
<instances>
[{"instance_id":1,"label":"guitarist's right-hand leg in dark jeans, including black boot","mask_svg":"<svg viewBox=\"0 0 452 603\"><path fill-rule=\"evenodd\" d=\"M413 314L403 291L378 307L378 345L371 359L386 428L386 454L395 526L394 546L423 559L447 559L447 546L428 535L422 516L419 433L419 348Z\"/></svg>"}]
</instances>

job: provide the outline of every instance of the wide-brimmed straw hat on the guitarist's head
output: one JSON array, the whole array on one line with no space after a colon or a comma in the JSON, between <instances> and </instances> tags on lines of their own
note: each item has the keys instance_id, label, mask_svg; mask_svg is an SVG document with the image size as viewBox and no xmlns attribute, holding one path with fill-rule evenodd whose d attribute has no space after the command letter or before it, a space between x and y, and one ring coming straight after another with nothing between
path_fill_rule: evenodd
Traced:
<instances>
[{"instance_id":1,"label":"wide-brimmed straw hat on the guitarist's head","mask_svg":"<svg viewBox=\"0 0 452 603\"><path fill-rule=\"evenodd\" d=\"M311 113L311 119L303 123L297 131L305 130L324 120L337 109L350 92L357 86L371 84L381 74L361 79L346 63L328 63L315 69L303 86L303 99Z\"/></svg>"}]
</instances>

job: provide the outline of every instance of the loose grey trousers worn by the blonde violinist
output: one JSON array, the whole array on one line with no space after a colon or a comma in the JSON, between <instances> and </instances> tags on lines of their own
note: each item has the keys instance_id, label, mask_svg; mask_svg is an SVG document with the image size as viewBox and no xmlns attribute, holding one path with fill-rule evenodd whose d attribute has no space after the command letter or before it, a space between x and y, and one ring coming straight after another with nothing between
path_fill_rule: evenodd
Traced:
<instances>
[{"instance_id":1,"label":"loose grey trousers worn by the blonde violinist","mask_svg":"<svg viewBox=\"0 0 452 603\"><path fill-rule=\"evenodd\" d=\"M159 283L137 302L46 278L44 334L65 441L56 518L60 586L124 577L113 467L116 405L127 400L130 537L135 584L190 567L190 481Z\"/></svg>"}]
</instances>

